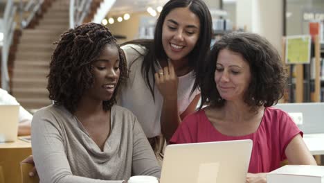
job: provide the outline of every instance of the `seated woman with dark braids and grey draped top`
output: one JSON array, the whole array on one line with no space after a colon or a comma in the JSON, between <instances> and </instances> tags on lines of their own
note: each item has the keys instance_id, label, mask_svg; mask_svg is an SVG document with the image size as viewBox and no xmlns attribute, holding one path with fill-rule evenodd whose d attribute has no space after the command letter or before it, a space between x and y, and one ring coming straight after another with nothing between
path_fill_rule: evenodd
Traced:
<instances>
[{"instance_id":1,"label":"seated woman with dark braids and grey draped top","mask_svg":"<svg viewBox=\"0 0 324 183\"><path fill-rule=\"evenodd\" d=\"M108 28L90 23L62 35L48 74L54 104L33 117L33 156L41 182L160 176L136 117L114 105L126 78L125 57Z\"/></svg>"}]
</instances>

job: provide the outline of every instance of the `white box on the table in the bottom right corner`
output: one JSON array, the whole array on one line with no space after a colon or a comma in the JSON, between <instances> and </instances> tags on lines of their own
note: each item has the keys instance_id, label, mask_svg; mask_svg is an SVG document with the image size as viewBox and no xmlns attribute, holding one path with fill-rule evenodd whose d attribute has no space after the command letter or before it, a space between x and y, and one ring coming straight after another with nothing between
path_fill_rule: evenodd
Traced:
<instances>
[{"instance_id":1,"label":"white box on the table in the bottom right corner","mask_svg":"<svg viewBox=\"0 0 324 183\"><path fill-rule=\"evenodd\" d=\"M267 183L324 183L324 166L286 165L267 174Z\"/></svg>"}]
</instances>

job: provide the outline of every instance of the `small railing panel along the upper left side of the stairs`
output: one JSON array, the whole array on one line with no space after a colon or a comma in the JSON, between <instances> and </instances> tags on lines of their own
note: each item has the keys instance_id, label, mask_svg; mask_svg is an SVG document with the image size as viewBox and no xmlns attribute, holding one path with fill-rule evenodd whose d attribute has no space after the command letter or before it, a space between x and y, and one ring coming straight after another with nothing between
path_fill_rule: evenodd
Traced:
<instances>
[{"instance_id":1,"label":"small railing panel along the upper left side of the stairs","mask_svg":"<svg viewBox=\"0 0 324 183\"><path fill-rule=\"evenodd\" d=\"M29 0L26 3L26 6L23 6L22 1L20 0L20 17L21 17L21 28L26 28L35 17L36 13L40 10L44 0ZM24 18L23 15L28 12L28 17Z\"/></svg>"}]
</instances>

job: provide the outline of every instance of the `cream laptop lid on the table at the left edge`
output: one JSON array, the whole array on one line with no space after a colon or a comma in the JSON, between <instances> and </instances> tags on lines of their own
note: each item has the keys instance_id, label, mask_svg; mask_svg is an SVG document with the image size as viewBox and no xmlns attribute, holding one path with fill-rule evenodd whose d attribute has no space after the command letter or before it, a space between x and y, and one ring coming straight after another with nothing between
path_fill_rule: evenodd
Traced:
<instances>
[{"instance_id":1,"label":"cream laptop lid on the table at the left edge","mask_svg":"<svg viewBox=\"0 0 324 183\"><path fill-rule=\"evenodd\" d=\"M19 105L0 105L0 142L16 141Z\"/></svg>"}]
</instances>

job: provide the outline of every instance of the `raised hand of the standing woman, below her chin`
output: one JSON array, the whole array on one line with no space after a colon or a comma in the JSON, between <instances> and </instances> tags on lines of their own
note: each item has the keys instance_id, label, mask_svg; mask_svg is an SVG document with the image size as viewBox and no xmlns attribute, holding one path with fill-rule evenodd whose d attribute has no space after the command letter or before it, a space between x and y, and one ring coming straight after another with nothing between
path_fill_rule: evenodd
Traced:
<instances>
[{"instance_id":1,"label":"raised hand of the standing woman, below her chin","mask_svg":"<svg viewBox=\"0 0 324 183\"><path fill-rule=\"evenodd\" d=\"M156 86L163 96L163 99L177 99L178 92L178 76L174 71L172 62L168 60L168 67L160 69L154 75Z\"/></svg>"}]
</instances>

